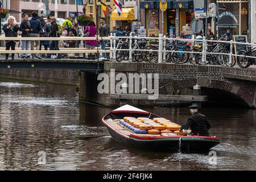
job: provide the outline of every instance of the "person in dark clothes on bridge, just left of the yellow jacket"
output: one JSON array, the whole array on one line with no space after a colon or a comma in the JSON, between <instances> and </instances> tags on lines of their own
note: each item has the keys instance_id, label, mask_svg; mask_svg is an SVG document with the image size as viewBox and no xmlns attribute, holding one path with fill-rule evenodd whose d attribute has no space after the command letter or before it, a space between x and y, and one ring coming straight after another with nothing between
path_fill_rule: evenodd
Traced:
<instances>
[{"instance_id":1,"label":"person in dark clothes on bridge, just left of the yellow jacket","mask_svg":"<svg viewBox=\"0 0 256 182\"><path fill-rule=\"evenodd\" d=\"M54 16L51 16L51 32L49 34L49 37L52 38L59 38L62 34L62 28L60 24L56 23L56 18ZM59 40L52 40L49 44L50 50L59 50ZM47 58L51 58L51 55L48 55ZM56 59L61 59L60 54L57 55Z\"/></svg>"}]
</instances>

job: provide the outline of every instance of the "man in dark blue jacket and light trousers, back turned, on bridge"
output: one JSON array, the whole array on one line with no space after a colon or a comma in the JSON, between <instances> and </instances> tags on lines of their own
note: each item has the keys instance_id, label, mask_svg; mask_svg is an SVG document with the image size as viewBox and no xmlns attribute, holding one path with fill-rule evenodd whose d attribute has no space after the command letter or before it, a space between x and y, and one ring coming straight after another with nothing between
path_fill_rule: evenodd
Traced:
<instances>
[{"instance_id":1,"label":"man in dark blue jacket and light trousers, back turned, on bridge","mask_svg":"<svg viewBox=\"0 0 256 182\"><path fill-rule=\"evenodd\" d=\"M42 29L42 25L40 23L40 20L37 18L38 13L36 13L36 11L33 11L32 13L32 18L30 19L30 24L31 24L31 37L35 37L35 38L39 38L39 32ZM31 40L31 51L34 51L34 47L36 44L36 51L39 51L40 48L40 42L39 40ZM34 58L35 55L32 54L32 58ZM38 59L42 59L42 57L39 56L39 54L36 54L36 57Z\"/></svg>"}]
</instances>

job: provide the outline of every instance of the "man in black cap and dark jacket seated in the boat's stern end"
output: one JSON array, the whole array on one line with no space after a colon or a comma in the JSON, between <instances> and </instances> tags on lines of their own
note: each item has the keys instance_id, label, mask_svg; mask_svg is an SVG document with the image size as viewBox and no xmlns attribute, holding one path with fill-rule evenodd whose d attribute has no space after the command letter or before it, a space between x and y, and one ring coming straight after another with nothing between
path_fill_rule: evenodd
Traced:
<instances>
[{"instance_id":1,"label":"man in black cap and dark jacket seated in the boat's stern end","mask_svg":"<svg viewBox=\"0 0 256 182\"><path fill-rule=\"evenodd\" d=\"M208 130L210 129L210 123L207 121L207 117L198 112L198 106L192 105L188 107L191 113L191 117L188 118L188 121L185 125L180 127L180 132L183 129L191 129L191 134L199 136L209 136Z\"/></svg>"}]
</instances>

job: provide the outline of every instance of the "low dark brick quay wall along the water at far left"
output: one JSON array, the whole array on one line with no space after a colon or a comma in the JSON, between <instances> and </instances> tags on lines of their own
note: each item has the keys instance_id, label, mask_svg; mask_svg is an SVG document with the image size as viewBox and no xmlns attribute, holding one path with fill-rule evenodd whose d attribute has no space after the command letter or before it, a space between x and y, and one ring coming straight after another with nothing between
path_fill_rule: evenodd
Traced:
<instances>
[{"instance_id":1,"label":"low dark brick quay wall along the water at far left","mask_svg":"<svg viewBox=\"0 0 256 182\"><path fill-rule=\"evenodd\" d=\"M79 73L73 69L0 69L0 77L53 84L79 84Z\"/></svg>"}]
</instances>

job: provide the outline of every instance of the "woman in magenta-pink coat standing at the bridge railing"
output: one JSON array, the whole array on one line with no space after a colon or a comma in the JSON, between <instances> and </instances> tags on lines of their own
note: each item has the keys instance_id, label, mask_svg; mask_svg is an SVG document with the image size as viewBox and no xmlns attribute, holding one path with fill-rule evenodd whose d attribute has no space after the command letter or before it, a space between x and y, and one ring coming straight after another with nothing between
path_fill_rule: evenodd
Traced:
<instances>
[{"instance_id":1,"label":"woman in magenta-pink coat standing at the bridge railing","mask_svg":"<svg viewBox=\"0 0 256 182\"><path fill-rule=\"evenodd\" d=\"M97 32L97 27L96 27L96 24L93 22L93 20L90 20L90 22L88 23L88 26L86 26L84 30L84 34L86 34L88 31L90 32L89 37L95 37ZM86 48L94 49L97 46L97 40L85 40L84 44ZM96 59L94 53L88 54L88 59Z\"/></svg>"}]
</instances>

